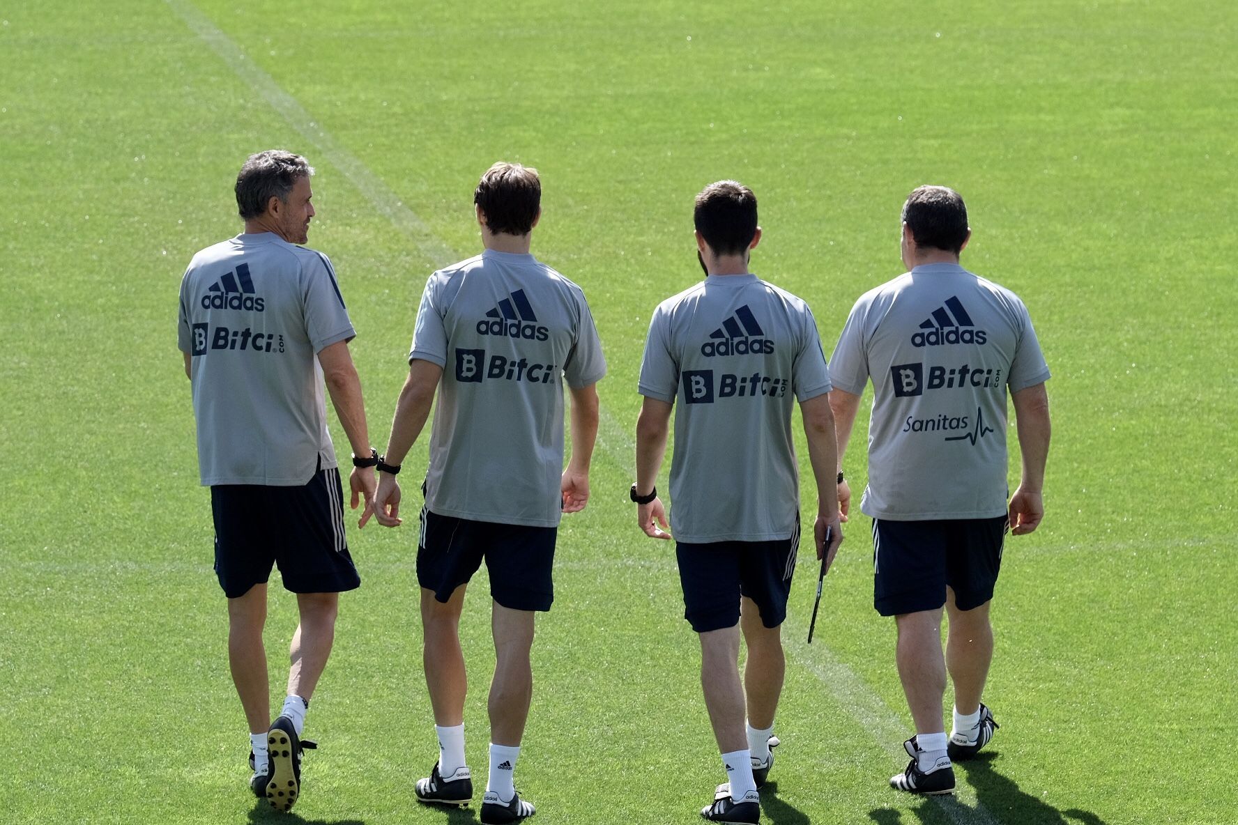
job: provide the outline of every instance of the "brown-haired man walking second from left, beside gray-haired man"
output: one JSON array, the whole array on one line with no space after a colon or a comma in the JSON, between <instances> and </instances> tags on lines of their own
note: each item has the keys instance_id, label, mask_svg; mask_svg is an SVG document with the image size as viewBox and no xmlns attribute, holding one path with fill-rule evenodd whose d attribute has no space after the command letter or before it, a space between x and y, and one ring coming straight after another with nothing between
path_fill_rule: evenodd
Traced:
<instances>
[{"instance_id":1,"label":"brown-haired man walking second from left, beside gray-haired man","mask_svg":"<svg viewBox=\"0 0 1238 825\"><path fill-rule=\"evenodd\" d=\"M379 464L375 517L400 523L400 461L435 413L422 492L417 581L423 660L438 762L416 783L423 803L473 797L464 759L464 590L490 573L495 646L490 774L482 821L534 814L513 784L532 698L534 617L553 601L562 513L584 510L598 432L594 385L605 360L578 286L529 254L541 218L537 171L495 163L474 192L485 250L430 276L391 439ZM563 385L572 396L572 459L563 469Z\"/></svg>"}]
</instances>

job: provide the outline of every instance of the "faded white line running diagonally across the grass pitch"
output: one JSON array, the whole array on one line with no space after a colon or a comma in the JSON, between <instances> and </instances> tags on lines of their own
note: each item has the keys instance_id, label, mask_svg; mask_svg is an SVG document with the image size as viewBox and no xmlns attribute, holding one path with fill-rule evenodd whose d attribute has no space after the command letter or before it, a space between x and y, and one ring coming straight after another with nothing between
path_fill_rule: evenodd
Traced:
<instances>
[{"instance_id":1,"label":"faded white line running diagonally across the grass pitch","mask_svg":"<svg viewBox=\"0 0 1238 825\"><path fill-rule=\"evenodd\" d=\"M337 143L301 106L297 100L271 78L270 74L254 64L236 43L223 33L208 17L187 0L165 0L184 22L272 109L284 115L285 120L297 130L316 150L317 156L344 173L344 177L379 212L386 215L422 251L435 266L443 266L457 260L457 256L404 202L365 165L348 150ZM605 409L598 428L599 447L620 466L631 466L635 461L635 443L630 433L623 428ZM795 636L799 636L796 633ZM886 746L889 752L901 762L904 751L899 745L905 737L905 727L881 698L873 693L855 673L838 660L825 644L808 649L807 644L790 642L787 651L813 673L831 690L843 709L860 721L873 737ZM893 662L891 662L893 667ZM962 789L969 793L968 789ZM891 792L893 793L893 792ZM956 825L998 825L978 803L964 805L952 799L932 798ZM974 794L972 794L974 801Z\"/></svg>"}]
</instances>

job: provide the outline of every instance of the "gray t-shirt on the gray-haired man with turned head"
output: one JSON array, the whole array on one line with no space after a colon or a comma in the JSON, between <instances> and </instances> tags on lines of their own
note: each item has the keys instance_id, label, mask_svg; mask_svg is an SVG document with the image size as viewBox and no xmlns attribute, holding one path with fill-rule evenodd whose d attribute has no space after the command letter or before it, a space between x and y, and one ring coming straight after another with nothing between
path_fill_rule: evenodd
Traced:
<instances>
[{"instance_id":1,"label":"gray t-shirt on the gray-haired man with turned head","mask_svg":"<svg viewBox=\"0 0 1238 825\"><path fill-rule=\"evenodd\" d=\"M193 256L177 340L193 356L204 486L303 485L335 466L317 354L357 333L322 252L271 233Z\"/></svg>"}]
</instances>

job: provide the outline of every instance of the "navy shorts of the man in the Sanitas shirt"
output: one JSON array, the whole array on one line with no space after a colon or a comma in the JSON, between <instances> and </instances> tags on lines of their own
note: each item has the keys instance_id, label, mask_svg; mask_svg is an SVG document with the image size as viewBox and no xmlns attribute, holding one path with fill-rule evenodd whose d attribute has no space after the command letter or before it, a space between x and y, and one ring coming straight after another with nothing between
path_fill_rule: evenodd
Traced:
<instances>
[{"instance_id":1,"label":"navy shorts of the man in the Sanitas shirt","mask_svg":"<svg viewBox=\"0 0 1238 825\"><path fill-rule=\"evenodd\" d=\"M938 610L946 588L959 610L993 597L1005 516L941 521L873 519L873 606L883 616Z\"/></svg>"}]
</instances>

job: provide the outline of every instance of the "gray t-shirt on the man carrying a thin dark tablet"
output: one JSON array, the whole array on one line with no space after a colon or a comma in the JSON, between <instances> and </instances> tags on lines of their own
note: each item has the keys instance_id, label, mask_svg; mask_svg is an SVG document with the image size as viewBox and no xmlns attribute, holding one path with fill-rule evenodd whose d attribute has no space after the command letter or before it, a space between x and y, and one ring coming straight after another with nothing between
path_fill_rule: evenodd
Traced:
<instances>
[{"instance_id":1,"label":"gray t-shirt on the man carrying a thin dark tablet","mask_svg":"<svg viewBox=\"0 0 1238 825\"><path fill-rule=\"evenodd\" d=\"M676 404L676 541L790 538L800 512L791 406L829 388L808 306L755 275L711 275L659 304L639 390Z\"/></svg>"}]
</instances>

